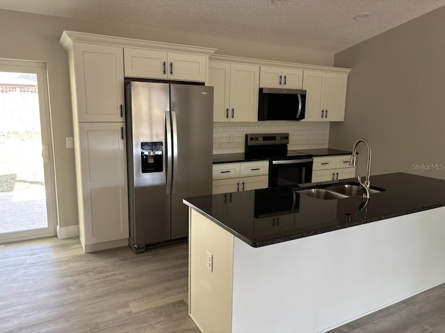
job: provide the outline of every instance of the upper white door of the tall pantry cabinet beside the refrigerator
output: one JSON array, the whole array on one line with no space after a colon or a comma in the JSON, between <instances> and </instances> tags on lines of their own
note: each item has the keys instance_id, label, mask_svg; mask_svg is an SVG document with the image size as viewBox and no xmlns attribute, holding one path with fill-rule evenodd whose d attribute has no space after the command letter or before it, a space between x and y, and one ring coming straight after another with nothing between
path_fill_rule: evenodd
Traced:
<instances>
[{"instance_id":1,"label":"upper white door of the tall pantry cabinet beside the refrigerator","mask_svg":"<svg viewBox=\"0 0 445 333\"><path fill-rule=\"evenodd\" d=\"M78 121L124 121L122 47L77 42L73 51Z\"/></svg>"}]
</instances>

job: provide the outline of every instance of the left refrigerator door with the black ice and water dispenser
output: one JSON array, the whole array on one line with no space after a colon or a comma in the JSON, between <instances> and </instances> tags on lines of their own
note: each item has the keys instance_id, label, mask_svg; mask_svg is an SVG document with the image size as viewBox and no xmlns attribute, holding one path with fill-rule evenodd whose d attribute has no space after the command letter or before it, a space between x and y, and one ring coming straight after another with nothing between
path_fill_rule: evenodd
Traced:
<instances>
[{"instance_id":1,"label":"left refrigerator door with the black ice and water dispenser","mask_svg":"<svg viewBox=\"0 0 445 333\"><path fill-rule=\"evenodd\" d=\"M170 239L170 195L166 183L169 147L165 141L165 128L170 127L165 116L170 110L169 90L164 83L131 82L127 87L126 99L131 104L127 108L131 246ZM152 172L143 173L143 166L147 165L143 159L155 163L160 155L161 171L154 167L149 170Z\"/></svg>"}]
</instances>

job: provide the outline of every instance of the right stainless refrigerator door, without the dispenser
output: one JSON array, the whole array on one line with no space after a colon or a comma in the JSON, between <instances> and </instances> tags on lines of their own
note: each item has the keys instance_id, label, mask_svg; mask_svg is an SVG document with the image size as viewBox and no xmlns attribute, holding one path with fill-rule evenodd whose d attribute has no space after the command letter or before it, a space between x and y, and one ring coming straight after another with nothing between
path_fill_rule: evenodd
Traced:
<instances>
[{"instance_id":1,"label":"right stainless refrigerator door, without the dispenser","mask_svg":"<svg viewBox=\"0 0 445 333\"><path fill-rule=\"evenodd\" d=\"M174 143L171 236L177 239L188 235L188 209L182 199L211 194L213 87L171 85L170 89Z\"/></svg>"}]
</instances>

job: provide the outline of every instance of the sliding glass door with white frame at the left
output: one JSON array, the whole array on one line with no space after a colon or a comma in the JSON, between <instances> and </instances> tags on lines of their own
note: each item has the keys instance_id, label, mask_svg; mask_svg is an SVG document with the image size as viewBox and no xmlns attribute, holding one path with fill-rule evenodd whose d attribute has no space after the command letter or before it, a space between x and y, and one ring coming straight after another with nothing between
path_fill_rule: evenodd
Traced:
<instances>
[{"instance_id":1,"label":"sliding glass door with white frame at the left","mask_svg":"<svg viewBox=\"0 0 445 333\"><path fill-rule=\"evenodd\" d=\"M54 234L44 63L0 60L0 244Z\"/></svg>"}]
</instances>

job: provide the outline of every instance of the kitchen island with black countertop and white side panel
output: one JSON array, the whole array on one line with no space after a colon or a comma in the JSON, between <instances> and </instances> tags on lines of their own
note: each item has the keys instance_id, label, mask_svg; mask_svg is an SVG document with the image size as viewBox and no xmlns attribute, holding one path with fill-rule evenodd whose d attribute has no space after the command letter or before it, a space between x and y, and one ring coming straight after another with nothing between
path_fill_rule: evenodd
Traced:
<instances>
[{"instance_id":1,"label":"kitchen island with black countertop and white side panel","mask_svg":"<svg viewBox=\"0 0 445 333\"><path fill-rule=\"evenodd\" d=\"M445 282L445 180L392 173L371 187L366 205L295 188L185 199L200 330L327 332Z\"/></svg>"}]
</instances>

